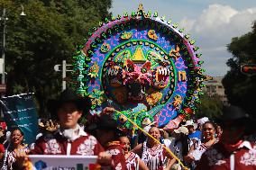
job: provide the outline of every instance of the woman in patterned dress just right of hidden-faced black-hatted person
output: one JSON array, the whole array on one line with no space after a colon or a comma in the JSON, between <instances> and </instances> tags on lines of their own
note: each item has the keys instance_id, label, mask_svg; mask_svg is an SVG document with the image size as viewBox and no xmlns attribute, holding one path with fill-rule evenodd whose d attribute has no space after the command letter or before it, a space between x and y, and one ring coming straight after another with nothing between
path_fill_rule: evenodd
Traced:
<instances>
[{"instance_id":1,"label":"woman in patterned dress just right of hidden-faced black-hatted person","mask_svg":"<svg viewBox=\"0 0 256 170\"><path fill-rule=\"evenodd\" d=\"M144 164L142 159L130 151L130 139L126 136L119 138L124 150L125 163L128 170L148 170L149 168Z\"/></svg>"}]
</instances>

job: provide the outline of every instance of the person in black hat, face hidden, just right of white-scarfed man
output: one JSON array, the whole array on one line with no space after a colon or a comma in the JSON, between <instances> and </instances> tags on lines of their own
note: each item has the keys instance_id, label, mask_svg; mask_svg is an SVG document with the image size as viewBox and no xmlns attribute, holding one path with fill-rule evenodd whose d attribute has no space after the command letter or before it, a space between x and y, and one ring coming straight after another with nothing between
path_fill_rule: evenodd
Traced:
<instances>
[{"instance_id":1,"label":"person in black hat, face hidden, just right of white-scarfed man","mask_svg":"<svg viewBox=\"0 0 256 170\"><path fill-rule=\"evenodd\" d=\"M111 166L112 169L123 170L127 169L124 151L119 141L123 132L117 128L117 122L111 117L113 112L115 112L114 108L106 107L96 119L96 122L91 123L92 128L89 129L95 130L96 139L105 148L105 153L111 155L111 165L102 166ZM99 158L102 157L108 158L108 156L100 156Z\"/></svg>"}]
</instances>

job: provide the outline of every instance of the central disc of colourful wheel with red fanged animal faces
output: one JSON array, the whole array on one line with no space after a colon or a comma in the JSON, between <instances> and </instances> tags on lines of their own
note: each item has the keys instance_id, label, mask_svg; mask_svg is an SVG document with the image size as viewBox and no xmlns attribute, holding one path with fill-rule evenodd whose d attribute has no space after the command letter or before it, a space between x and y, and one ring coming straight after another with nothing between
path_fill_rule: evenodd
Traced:
<instances>
[{"instance_id":1,"label":"central disc of colourful wheel with red fanged animal faces","mask_svg":"<svg viewBox=\"0 0 256 170\"><path fill-rule=\"evenodd\" d=\"M159 103L164 94L162 91L170 84L170 88L175 86L173 64L165 60L164 55L167 52L157 44L142 40L127 41L114 48L103 68L103 87L109 92L107 96L124 105ZM165 96L165 101L168 98Z\"/></svg>"}]
</instances>

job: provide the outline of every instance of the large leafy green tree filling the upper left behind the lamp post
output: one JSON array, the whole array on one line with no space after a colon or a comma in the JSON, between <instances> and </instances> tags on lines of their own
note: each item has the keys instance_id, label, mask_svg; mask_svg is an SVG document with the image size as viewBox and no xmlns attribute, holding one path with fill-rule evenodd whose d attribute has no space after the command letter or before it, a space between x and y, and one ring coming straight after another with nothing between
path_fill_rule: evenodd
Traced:
<instances>
[{"instance_id":1,"label":"large leafy green tree filling the upper left behind the lamp post","mask_svg":"<svg viewBox=\"0 0 256 170\"><path fill-rule=\"evenodd\" d=\"M26 16L21 17L21 4ZM40 114L48 99L61 91L61 73L53 70L72 54L99 21L112 0L4 0L8 17L5 72L6 95L34 92ZM69 67L71 69L71 67Z\"/></svg>"}]
</instances>

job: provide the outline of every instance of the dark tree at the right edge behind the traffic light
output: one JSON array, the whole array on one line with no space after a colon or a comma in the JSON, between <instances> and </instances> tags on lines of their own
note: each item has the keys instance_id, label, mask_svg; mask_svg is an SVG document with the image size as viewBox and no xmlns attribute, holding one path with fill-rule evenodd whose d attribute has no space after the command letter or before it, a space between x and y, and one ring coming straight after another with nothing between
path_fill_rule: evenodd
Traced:
<instances>
[{"instance_id":1,"label":"dark tree at the right edge behind the traffic light","mask_svg":"<svg viewBox=\"0 0 256 170\"><path fill-rule=\"evenodd\" d=\"M242 75L240 70L242 64L256 64L256 22L252 31L233 38L227 47L233 58L227 61L230 71L223 79L225 94L230 103L242 106L256 117L256 76Z\"/></svg>"}]
</instances>

